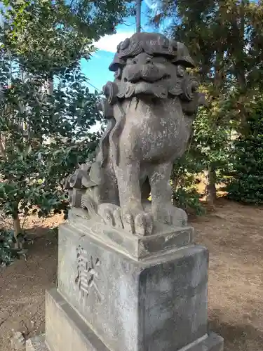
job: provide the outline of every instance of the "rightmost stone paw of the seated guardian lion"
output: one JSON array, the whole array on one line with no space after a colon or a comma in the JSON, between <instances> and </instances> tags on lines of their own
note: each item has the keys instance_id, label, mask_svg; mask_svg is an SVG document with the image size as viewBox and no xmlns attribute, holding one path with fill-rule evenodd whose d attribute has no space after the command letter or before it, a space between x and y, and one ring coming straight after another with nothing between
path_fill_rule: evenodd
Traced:
<instances>
[{"instance_id":1,"label":"rightmost stone paw of the seated guardian lion","mask_svg":"<svg viewBox=\"0 0 263 351\"><path fill-rule=\"evenodd\" d=\"M187 213L179 207L173 206L173 204L166 204L159 208L153 209L154 219L158 222L175 225L176 227L187 226Z\"/></svg>"}]
</instances>

